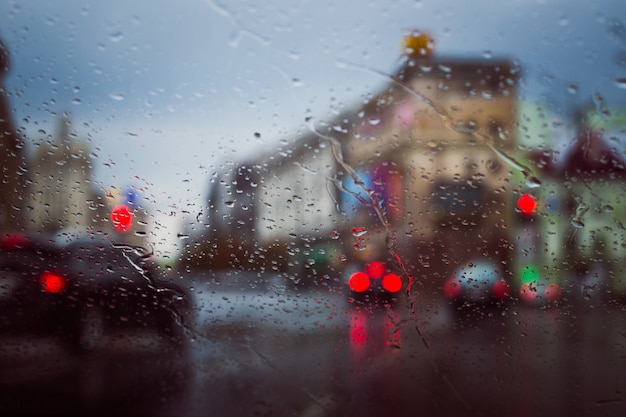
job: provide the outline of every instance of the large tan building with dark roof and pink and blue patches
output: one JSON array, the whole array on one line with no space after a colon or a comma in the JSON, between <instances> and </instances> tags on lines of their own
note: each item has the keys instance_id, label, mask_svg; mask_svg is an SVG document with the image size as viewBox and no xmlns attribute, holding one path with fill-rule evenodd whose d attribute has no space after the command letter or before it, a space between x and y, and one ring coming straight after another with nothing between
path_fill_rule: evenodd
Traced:
<instances>
[{"instance_id":1,"label":"large tan building with dark roof and pink and blue patches","mask_svg":"<svg viewBox=\"0 0 626 417\"><path fill-rule=\"evenodd\" d=\"M354 171L343 170L339 199L359 235L344 235L356 245L346 245L347 262L391 260L393 251L434 286L476 259L511 266L519 76L504 59L408 56L332 126Z\"/></svg>"}]
</instances>

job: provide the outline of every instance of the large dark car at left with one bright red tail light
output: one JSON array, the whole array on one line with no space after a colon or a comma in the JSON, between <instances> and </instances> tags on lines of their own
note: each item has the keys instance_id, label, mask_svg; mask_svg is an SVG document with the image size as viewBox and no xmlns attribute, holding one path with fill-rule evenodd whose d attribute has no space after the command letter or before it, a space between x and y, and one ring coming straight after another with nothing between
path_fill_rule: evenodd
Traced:
<instances>
[{"instance_id":1,"label":"large dark car at left with one bright red tail light","mask_svg":"<svg viewBox=\"0 0 626 417\"><path fill-rule=\"evenodd\" d=\"M95 349L110 331L152 329L185 340L189 296L167 282L142 248L102 237L59 245L5 235L0 242L0 328L59 335Z\"/></svg>"}]
</instances>

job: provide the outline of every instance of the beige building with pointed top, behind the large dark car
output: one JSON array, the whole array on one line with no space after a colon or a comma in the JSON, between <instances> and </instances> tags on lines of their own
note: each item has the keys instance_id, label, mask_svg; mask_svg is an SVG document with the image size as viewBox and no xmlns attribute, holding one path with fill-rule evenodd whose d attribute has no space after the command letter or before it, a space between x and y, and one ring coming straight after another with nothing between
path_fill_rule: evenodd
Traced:
<instances>
[{"instance_id":1,"label":"beige building with pointed top, behind the large dark car","mask_svg":"<svg viewBox=\"0 0 626 417\"><path fill-rule=\"evenodd\" d=\"M35 143L24 193L26 230L71 240L84 234L106 234L112 241L145 245L150 224L132 188L98 189L93 183L91 149L73 129L69 115L56 131ZM128 228L116 228L114 207L125 205L133 217Z\"/></svg>"}]
</instances>

